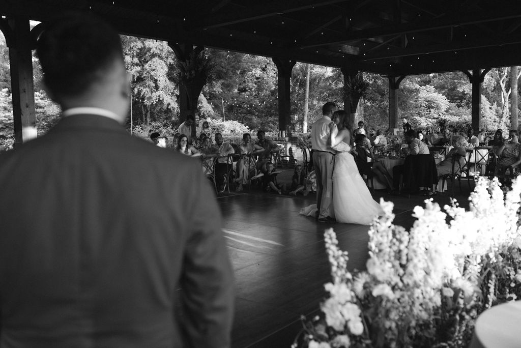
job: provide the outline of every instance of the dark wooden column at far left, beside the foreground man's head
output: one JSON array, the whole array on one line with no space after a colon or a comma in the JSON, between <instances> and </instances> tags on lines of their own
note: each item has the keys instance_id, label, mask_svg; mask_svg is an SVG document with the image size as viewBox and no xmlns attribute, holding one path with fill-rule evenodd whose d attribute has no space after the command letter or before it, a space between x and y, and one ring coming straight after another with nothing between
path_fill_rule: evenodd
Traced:
<instances>
[{"instance_id":1,"label":"dark wooden column at far left, beside the foreground man's head","mask_svg":"<svg viewBox=\"0 0 521 348\"><path fill-rule=\"evenodd\" d=\"M2 19L9 47L15 146L36 138L31 28L29 18Z\"/></svg>"}]
</instances>

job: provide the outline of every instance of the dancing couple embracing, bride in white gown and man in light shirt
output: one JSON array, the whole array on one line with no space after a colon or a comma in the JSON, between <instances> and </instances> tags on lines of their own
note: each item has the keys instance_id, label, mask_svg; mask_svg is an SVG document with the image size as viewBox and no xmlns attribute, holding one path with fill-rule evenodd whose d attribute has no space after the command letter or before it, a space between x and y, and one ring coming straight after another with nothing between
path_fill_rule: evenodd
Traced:
<instances>
[{"instance_id":1,"label":"dancing couple embracing, bride in white gown and man in light shirt","mask_svg":"<svg viewBox=\"0 0 521 348\"><path fill-rule=\"evenodd\" d=\"M313 123L311 141L317 177L317 204L302 215L315 215L319 222L370 225L383 214L358 172L351 146L350 116L334 103L322 107L322 118Z\"/></svg>"}]
</instances>

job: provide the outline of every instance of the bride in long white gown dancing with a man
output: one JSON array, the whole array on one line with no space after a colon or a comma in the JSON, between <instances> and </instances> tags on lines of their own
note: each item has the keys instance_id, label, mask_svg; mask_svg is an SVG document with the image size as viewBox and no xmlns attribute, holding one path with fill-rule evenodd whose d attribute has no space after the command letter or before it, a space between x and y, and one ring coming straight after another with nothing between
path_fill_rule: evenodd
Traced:
<instances>
[{"instance_id":1,"label":"bride in long white gown dancing with a man","mask_svg":"<svg viewBox=\"0 0 521 348\"><path fill-rule=\"evenodd\" d=\"M380 204L373 200L367 185L360 176L351 155L351 130L349 116L344 110L333 114L338 133L331 131L331 147L337 151L333 170L333 212L338 222L370 225L375 216L383 215ZM333 129L331 123L331 129ZM314 216L316 205L301 210L303 215Z\"/></svg>"}]
</instances>

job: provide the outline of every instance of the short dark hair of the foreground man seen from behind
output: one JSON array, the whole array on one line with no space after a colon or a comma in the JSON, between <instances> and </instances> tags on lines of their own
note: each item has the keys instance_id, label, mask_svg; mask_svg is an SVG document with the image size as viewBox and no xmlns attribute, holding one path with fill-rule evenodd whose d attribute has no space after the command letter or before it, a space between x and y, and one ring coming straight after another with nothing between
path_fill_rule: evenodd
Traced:
<instances>
[{"instance_id":1,"label":"short dark hair of the foreground man seen from behind","mask_svg":"<svg viewBox=\"0 0 521 348\"><path fill-rule=\"evenodd\" d=\"M68 14L49 22L36 44L43 81L61 96L84 93L105 75L115 59L123 61L118 33L89 14Z\"/></svg>"}]
</instances>

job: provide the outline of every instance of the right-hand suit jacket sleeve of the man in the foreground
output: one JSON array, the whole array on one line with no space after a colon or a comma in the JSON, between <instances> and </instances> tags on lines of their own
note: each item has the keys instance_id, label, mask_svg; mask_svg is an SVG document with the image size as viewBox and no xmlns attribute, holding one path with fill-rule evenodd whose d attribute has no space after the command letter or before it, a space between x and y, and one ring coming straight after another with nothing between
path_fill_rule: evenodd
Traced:
<instances>
[{"instance_id":1,"label":"right-hand suit jacket sleeve of the man in the foreground","mask_svg":"<svg viewBox=\"0 0 521 348\"><path fill-rule=\"evenodd\" d=\"M233 149L233 148L232 148ZM230 346L233 318L233 276L222 234L222 219L213 192L199 164L193 168L193 198L180 279L183 329L189 347ZM204 214L201 214L204 212Z\"/></svg>"}]
</instances>

